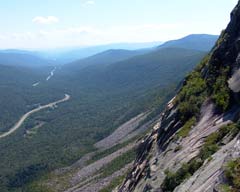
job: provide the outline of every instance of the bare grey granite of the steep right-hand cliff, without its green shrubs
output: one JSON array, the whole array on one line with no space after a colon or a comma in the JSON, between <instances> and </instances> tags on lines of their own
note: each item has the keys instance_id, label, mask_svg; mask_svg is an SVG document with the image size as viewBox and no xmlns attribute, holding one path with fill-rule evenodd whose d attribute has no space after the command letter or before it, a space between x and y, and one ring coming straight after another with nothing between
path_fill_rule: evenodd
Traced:
<instances>
[{"instance_id":1,"label":"bare grey granite of the steep right-hand cliff, without its green shrubs","mask_svg":"<svg viewBox=\"0 0 240 192\"><path fill-rule=\"evenodd\" d=\"M187 137L177 138L182 128L178 106L173 98L166 106L159 122L145 136L138 147L138 155L132 170L119 186L119 192L164 192L161 185L165 171L176 172L183 163L199 155L204 140L223 125L239 119L240 92L240 1L231 13L231 21L210 53L209 64L202 70L207 83L216 79L222 67L228 67L228 86L231 91L231 107L219 112L215 103L207 98L201 107L200 118ZM240 157L239 134L226 139L224 145L205 160L203 165L174 192L218 192L224 184L223 168L226 162Z\"/></svg>"}]
</instances>

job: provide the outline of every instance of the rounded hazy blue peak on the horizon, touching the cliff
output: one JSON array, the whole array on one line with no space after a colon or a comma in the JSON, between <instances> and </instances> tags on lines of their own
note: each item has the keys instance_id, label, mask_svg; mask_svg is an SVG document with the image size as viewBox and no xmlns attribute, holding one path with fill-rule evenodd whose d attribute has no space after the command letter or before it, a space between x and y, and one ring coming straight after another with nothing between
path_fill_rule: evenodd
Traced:
<instances>
[{"instance_id":1,"label":"rounded hazy blue peak on the horizon, touching the cliff","mask_svg":"<svg viewBox=\"0 0 240 192\"><path fill-rule=\"evenodd\" d=\"M217 39L218 35L193 34L183 37L181 39L168 41L163 45L160 45L158 49L177 47L199 51L210 51Z\"/></svg>"}]
</instances>

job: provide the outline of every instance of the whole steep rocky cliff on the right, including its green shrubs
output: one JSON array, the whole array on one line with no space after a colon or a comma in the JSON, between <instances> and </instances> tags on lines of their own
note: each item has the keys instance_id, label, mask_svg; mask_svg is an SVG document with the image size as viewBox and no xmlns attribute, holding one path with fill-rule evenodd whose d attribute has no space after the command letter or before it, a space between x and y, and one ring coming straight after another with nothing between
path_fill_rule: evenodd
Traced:
<instances>
[{"instance_id":1,"label":"whole steep rocky cliff on the right, including its green shrubs","mask_svg":"<svg viewBox=\"0 0 240 192\"><path fill-rule=\"evenodd\" d=\"M240 2L211 53L138 147L120 192L240 191ZM240 176L238 171L235 175Z\"/></svg>"}]
</instances>

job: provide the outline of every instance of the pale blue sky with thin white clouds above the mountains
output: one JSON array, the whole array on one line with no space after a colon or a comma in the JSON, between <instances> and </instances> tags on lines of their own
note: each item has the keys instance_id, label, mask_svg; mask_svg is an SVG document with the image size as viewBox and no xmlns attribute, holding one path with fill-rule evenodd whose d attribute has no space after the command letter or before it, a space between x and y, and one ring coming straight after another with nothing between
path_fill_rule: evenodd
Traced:
<instances>
[{"instance_id":1,"label":"pale blue sky with thin white clouds above the mountains","mask_svg":"<svg viewBox=\"0 0 240 192\"><path fill-rule=\"evenodd\" d=\"M238 0L0 0L0 49L220 34Z\"/></svg>"}]
</instances>

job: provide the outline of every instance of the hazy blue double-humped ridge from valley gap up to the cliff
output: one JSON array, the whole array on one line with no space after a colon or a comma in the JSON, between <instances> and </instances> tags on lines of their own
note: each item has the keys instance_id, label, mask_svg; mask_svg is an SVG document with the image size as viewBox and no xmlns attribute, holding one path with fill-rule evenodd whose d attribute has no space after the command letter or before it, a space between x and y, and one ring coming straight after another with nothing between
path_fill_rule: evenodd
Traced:
<instances>
[{"instance_id":1,"label":"hazy blue double-humped ridge from valley gap up to the cliff","mask_svg":"<svg viewBox=\"0 0 240 192\"><path fill-rule=\"evenodd\" d=\"M87 65L94 64L110 64L118 61L123 61L131 57L147 54L150 52L156 52L157 50L161 51L165 48L183 48L189 50L197 50L208 52L213 45L215 44L218 36L217 35L189 35L187 37L168 41L157 47L150 47L148 49L138 49L138 50L124 50L124 49L111 49L96 55L74 61L70 64L69 67L79 65L79 68ZM195 45L195 46L194 46Z\"/></svg>"}]
</instances>

